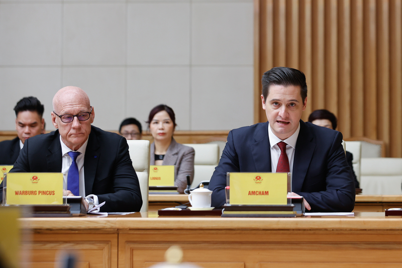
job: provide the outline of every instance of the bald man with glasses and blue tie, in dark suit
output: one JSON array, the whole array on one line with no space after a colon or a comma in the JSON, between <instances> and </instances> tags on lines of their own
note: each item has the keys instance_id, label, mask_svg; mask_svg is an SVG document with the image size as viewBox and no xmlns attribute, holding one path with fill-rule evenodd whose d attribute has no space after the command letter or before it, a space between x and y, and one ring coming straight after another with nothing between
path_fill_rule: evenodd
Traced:
<instances>
[{"instance_id":1,"label":"bald man with glasses and blue tie, in dark suit","mask_svg":"<svg viewBox=\"0 0 402 268\"><path fill-rule=\"evenodd\" d=\"M26 140L10 172L61 172L63 195L86 196L89 209L105 201L101 211L139 211L141 191L127 141L92 126L94 118L84 90L60 89L53 98L57 130Z\"/></svg>"}]
</instances>

